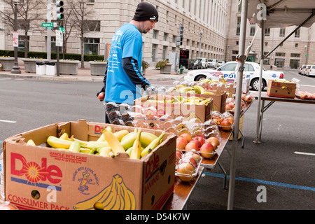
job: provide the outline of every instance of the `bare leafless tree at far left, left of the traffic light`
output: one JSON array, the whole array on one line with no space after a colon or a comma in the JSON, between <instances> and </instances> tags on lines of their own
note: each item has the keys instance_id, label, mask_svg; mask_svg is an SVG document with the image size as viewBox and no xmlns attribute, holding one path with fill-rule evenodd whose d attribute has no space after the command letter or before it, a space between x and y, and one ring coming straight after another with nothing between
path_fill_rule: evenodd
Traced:
<instances>
[{"instance_id":1,"label":"bare leafless tree at far left, left of the traffic light","mask_svg":"<svg viewBox=\"0 0 315 224\"><path fill-rule=\"evenodd\" d=\"M0 17L6 21L8 29L14 30L14 8L15 4L13 0L2 0L4 3L4 10L0 10ZM41 10L43 3L40 0L25 0L18 3L18 29L23 29L24 33L24 47L25 57L28 55L29 43L27 33L31 31L39 30L38 20L43 20Z\"/></svg>"}]
</instances>

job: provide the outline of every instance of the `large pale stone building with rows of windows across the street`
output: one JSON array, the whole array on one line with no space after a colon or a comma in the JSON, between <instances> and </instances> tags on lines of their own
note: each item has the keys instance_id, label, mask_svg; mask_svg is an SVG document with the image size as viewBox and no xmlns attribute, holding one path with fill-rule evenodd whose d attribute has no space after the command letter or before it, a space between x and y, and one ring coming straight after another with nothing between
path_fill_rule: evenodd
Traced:
<instances>
[{"instance_id":1,"label":"large pale stone building with rows of windows across the street","mask_svg":"<svg viewBox=\"0 0 315 224\"><path fill-rule=\"evenodd\" d=\"M20 0L26 2L24 0ZM48 1L48 0L46 0ZM55 17L55 0L52 2L52 22ZM69 12L70 2L64 1L65 17ZM155 29L148 34L143 34L144 48L143 59L151 66L161 59L169 59L171 52L179 53L179 50L189 52L189 58L197 57L216 58L218 60L234 60L238 54L239 42L239 1L232 0L147 0L157 7L159 22ZM77 4L80 1L75 1ZM105 55L107 45L111 43L111 37L118 27L125 22L130 22L134 10L141 0L85 0L84 1L84 38L83 50L85 54ZM41 9L37 9L37 20L32 20L29 25L27 37L29 38L29 51L46 52L48 31L41 27L47 22L47 3L42 3ZM6 11L8 6L1 1L0 11ZM73 13L72 13L73 14ZM72 15L73 16L73 15ZM70 15L69 15L70 18ZM73 18L73 17L72 17ZM69 22L69 21L68 21ZM70 21L71 22L71 21ZM69 23L70 23L69 22ZM180 46L176 45L179 37L179 27L183 25L183 38ZM80 31L78 27L66 25L66 52L80 53ZM269 52L290 33L295 27L285 29L269 29L265 35L265 51ZM314 29L301 28L299 34L290 37L283 46L265 59L266 64L274 64L281 67L297 67L302 64L313 64L314 55ZM252 41L253 34L258 34L253 42L251 60L259 62L260 52L260 28L257 25L249 25L246 33L246 45ZM12 28L6 21L0 18L0 49L13 50ZM25 31L19 29L19 50L24 49L23 38ZM55 32L51 31L51 49L55 51ZM307 55L308 57L304 57Z\"/></svg>"}]
</instances>

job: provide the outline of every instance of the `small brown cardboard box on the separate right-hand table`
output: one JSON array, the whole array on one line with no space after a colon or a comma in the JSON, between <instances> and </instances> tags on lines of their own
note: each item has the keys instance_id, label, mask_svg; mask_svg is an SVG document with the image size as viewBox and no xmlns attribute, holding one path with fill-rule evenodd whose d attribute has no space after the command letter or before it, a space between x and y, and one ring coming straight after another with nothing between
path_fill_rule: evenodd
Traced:
<instances>
[{"instance_id":1,"label":"small brown cardboard box on the separate right-hand table","mask_svg":"<svg viewBox=\"0 0 315 224\"><path fill-rule=\"evenodd\" d=\"M269 80L267 94L269 97L295 98L296 83Z\"/></svg>"}]
</instances>

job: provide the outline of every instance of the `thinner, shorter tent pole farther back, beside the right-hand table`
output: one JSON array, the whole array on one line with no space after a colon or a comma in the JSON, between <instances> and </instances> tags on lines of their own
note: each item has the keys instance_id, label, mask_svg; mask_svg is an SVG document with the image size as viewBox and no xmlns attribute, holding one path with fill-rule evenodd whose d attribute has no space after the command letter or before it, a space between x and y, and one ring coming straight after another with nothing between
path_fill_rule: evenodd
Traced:
<instances>
[{"instance_id":1,"label":"thinner, shorter tent pole farther back, beside the right-hand table","mask_svg":"<svg viewBox=\"0 0 315 224\"><path fill-rule=\"evenodd\" d=\"M261 20L260 22L261 27L261 38L260 38L260 71L259 71L259 85L261 86L262 83L262 66L264 64L264 42L265 42L265 22ZM256 140L253 141L254 143L260 143L260 135L259 129L262 125L262 117L260 117L261 111L261 88L258 89L258 107L257 107L257 119L256 119Z\"/></svg>"}]
</instances>

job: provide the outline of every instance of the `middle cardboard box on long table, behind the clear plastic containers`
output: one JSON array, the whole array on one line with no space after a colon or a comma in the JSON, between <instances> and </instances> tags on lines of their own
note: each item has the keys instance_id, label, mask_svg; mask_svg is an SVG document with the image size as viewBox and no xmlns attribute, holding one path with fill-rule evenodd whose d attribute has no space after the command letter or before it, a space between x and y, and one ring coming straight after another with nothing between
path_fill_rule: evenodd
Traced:
<instances>
[{"instance_id":1,"label":"middle cardboard box on long table, behind the clear plastic containers","mask_svg":"<svg viewBox=\"0 0 315 224\"><path fill-rule=\"evenodd\" d=\"M187 120L199 118L202 123L211 119L213 99L207 105L174 104L172 99L178 96L151 95L134 100L134 112L145 113L148 118L169 115L170 118L182 116ZM202 98L207 99L207 98ZM150 100L150 101L149 101ZM152 100L152 101L151 101ZM145 109L144 111L139 111Z\"/></svg>"}]
</instances>

